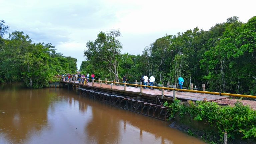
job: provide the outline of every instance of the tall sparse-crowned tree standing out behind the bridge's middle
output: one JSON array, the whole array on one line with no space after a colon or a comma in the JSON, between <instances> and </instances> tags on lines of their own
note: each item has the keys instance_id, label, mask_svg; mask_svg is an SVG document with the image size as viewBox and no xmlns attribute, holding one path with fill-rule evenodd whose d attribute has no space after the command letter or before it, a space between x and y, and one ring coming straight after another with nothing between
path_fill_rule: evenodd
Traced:
<instances>
[{"instance_id":1,"label":"tall sparse-crowned tree standing out behind the bridge's middle","mask_svg":"<svg viewBox=\"0 0 256 144\"><path fill-rule=\"evenodd\" d=\"M117 82L119 82L118 67L122 49L122 45L117 39L119 36L121 36L119 30L110 30L107 33L100 32L94 42L87 42L88 50L84 51L87 60L90 60L94 66L104 67L113 73Z\"/></svg>"}]
</instances>

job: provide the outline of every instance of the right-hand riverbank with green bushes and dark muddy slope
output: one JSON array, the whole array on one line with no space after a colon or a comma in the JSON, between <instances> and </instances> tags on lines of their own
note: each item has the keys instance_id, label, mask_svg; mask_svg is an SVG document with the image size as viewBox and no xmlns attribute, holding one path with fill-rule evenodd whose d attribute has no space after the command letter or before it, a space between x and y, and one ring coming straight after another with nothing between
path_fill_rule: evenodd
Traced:
<instances>
[{"instance_id":1,"label":"right-hand riverbank with green bushes and dark muddy slope","mask_svg":"<svg viewBox=\"0 0 256 144\"><path fill-rule=\"evenodd\" d=\"M169 106L170 127L211 143L256 143L256 111L237 101L233 107L215 102L174 100Z\"/></svg>"}]
</instances>

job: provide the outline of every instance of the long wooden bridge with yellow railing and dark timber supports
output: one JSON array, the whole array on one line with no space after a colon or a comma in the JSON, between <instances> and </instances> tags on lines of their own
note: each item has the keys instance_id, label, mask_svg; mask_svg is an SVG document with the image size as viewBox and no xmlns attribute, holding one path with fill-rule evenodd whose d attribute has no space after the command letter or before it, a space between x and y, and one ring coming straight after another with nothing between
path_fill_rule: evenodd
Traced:
<instances>
[{"instance_id":1,"label":"long wooden bridge with yellow railing and dark timber supports","mask_svg":"<svg viewBox=\"0 0 256 144\"><path fill-rule=\"evenodd\" d=\"M80 80L77 80L79 78ZM61 77L59 86L61 85L67 85L68 88L78 90L82 96L161 120L166 120L168 113L168 107L163 106L163 102L170 102L175 98L183 101L214 101L220 105L229 104L231 106L237 101L237 99L232 99L234 96L256 99L256 96L251 95L178 89L175 86L165 85L145 86L142 83L137 83L137 81L120 83L75 76L71 76L70 79ZM256 109L256 101L241 100L241 102Z\"/></svg>"}]
</instances>

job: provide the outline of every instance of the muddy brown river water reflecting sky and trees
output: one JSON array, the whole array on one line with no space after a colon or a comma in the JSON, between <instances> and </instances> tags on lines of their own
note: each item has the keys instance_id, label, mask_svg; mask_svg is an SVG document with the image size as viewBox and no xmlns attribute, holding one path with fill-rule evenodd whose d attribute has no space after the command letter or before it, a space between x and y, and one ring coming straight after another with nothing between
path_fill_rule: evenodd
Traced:
<instances>
[{"instance_id":1,"label":"muddy brown river water reflecting sky and trees","mask_svg":"<svg viewBox=\"0 0 256 144\"><path fill-rule=\"evenodd\" d=\"M65 88L0 85L0 144L202 144L168 122Z\"/></svg>"}]
</instances>

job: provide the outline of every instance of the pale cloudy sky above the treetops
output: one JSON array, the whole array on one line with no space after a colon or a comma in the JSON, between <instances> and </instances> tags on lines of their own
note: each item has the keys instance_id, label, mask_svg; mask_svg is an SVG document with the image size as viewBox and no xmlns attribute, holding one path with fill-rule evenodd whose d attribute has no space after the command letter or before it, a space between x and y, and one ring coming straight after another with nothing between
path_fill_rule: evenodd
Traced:
<instances>
[{"instance_id":1,"label":"pale cloudy sky above the treetops","mask_svg":"<svg viewBox=\"0 0 256 144\"><path fill-rule=\"evenodd\" d=\"M0 19L34 43L85 60L86 43L118 29L122 53L141 54L156 39L195 27L209 30L232 16L247 22L256 16L255 0L0 0ZM5 36L7 38L8 35Z\"/></svg>"}]
</instances>

